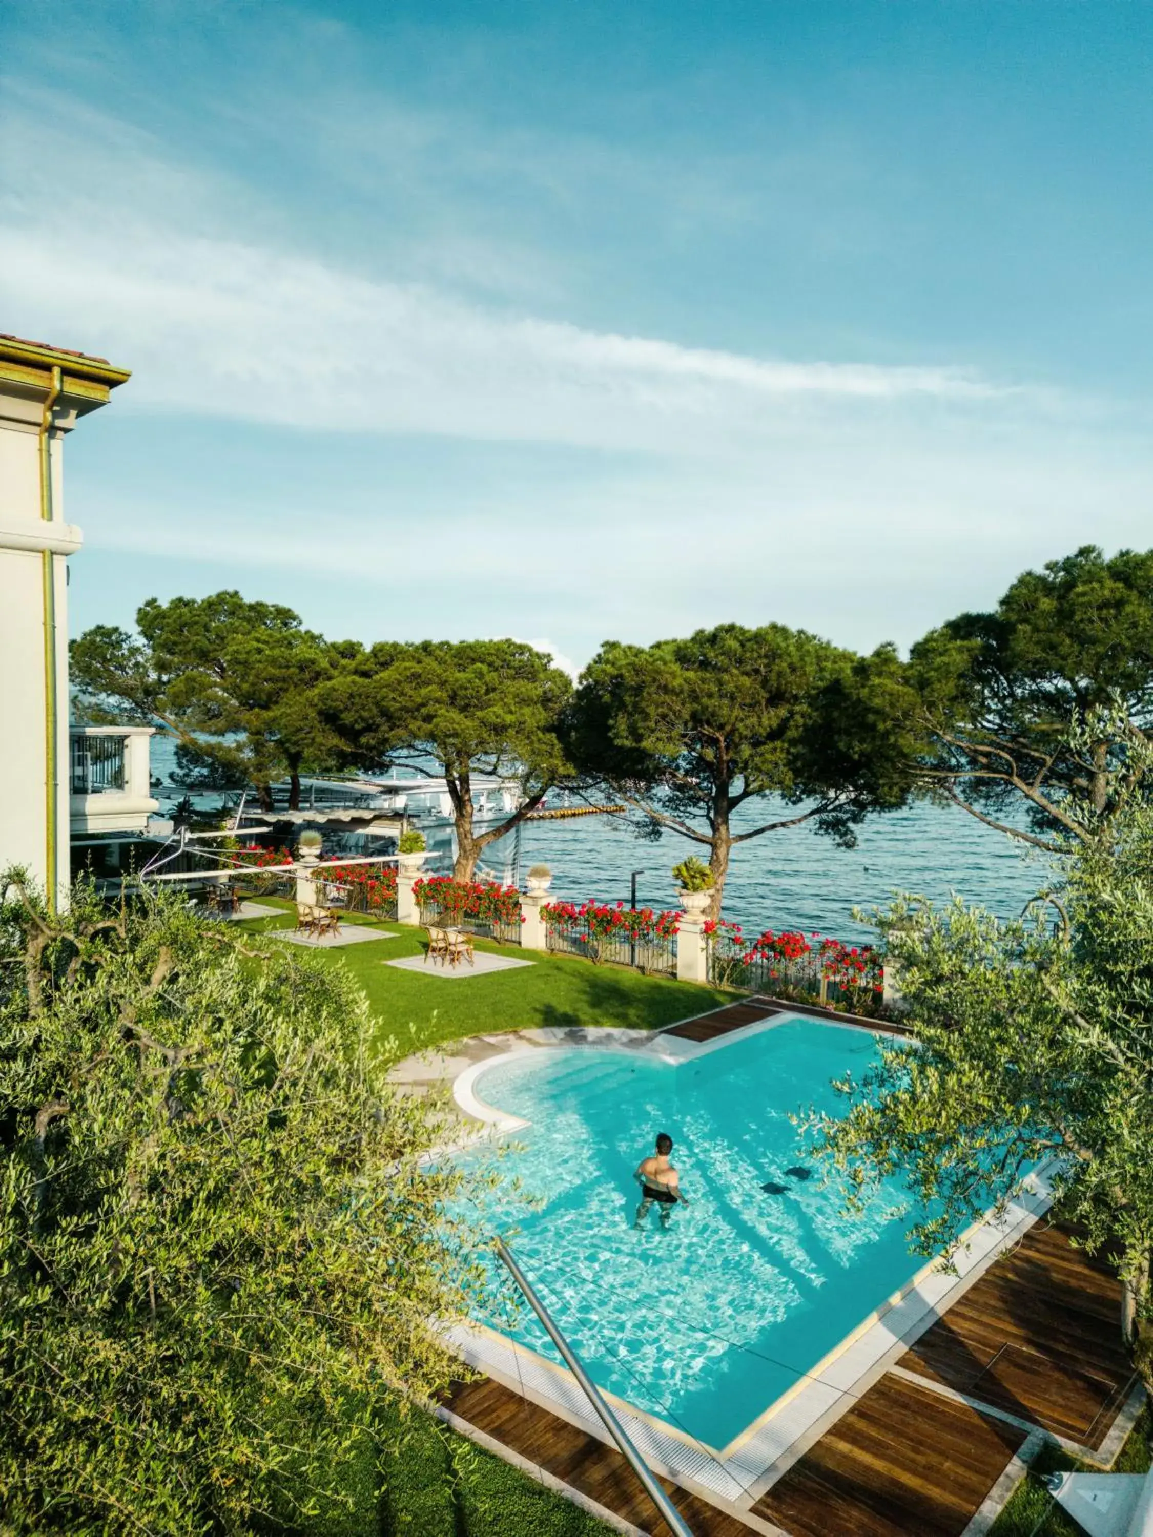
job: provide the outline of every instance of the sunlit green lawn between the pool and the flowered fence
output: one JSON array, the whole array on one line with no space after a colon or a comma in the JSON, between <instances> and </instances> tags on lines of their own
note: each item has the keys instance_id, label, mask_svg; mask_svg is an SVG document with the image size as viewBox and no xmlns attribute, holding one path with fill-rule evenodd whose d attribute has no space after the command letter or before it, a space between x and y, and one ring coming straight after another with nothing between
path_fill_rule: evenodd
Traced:
<instances>
[{"instance_id":1,"label":"sunlit green lawn between the pool and the flowered fence","mask_svg":"<svg viewBox=\"0 0 1153 1537\"><path fill-rule=\"evenodd\" d=\"M292 924L287 918L267 918L252 919L244 927L269 931ZM570 956L521 951L520 945L501 947L483 939L477 941L478 950L523 958L532 961L532 965L487 976L421 976L387 962L421 954L424 931L397 924L375 927L398 938L301 953L323 954L327 964L346 965L352 971L380 1019L381 1034L395 1039L401 1056L444 1041L497 1030L532 1030L541 1025L652 1030L703 1014L719 1002L732 1002L730 993L695 987L692 982L641 976L624 967L596 967Z\"/></svg>"}]
</instances>

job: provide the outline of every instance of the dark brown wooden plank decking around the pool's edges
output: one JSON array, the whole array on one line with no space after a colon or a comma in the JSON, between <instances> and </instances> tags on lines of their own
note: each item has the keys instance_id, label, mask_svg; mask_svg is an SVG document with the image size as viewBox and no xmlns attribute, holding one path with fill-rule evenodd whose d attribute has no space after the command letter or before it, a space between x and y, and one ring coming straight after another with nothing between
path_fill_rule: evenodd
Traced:
<instances>
[{"instance_id":1,"label":"dark brown wooden plank decking around the pool's edges","mask_svg":"<svg viewBox=\"0 0 1153 1537\"><path fill-rule=\"evenodd\" d=\"M749 999L669 1033L707 1044L781 1008ZM1044 1219L1028 1228L767 1488L733 1505L663 1480L695 1537L976 1537L1022 1449L1059 1439L1107 1462L1136 1402L1121 1286L1072 1239ZM669 1537L624 1457L587 1428L490 1377L457 1383L441 1414L623 1531Z\"/></svg>"}]
</instances>

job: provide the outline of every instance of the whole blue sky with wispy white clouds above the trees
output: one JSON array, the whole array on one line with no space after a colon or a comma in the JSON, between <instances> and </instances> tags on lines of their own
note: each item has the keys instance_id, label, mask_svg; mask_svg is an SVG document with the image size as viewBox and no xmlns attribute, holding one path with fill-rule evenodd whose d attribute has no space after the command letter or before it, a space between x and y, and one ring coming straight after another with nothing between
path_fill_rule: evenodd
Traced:
<instances>
[{"instance_id":1,"label":"whole blue sky with wispy white clouds above the trees","mask_svg":"<svg viewBox=\"0 0 1153 1537\"><path fill-rule=\"evenodd\" d=\"M9 0L0 60L0 330L134 369L74 629L905 646L1153 543L1153 6Z\"/></svg>"}]
</instances>

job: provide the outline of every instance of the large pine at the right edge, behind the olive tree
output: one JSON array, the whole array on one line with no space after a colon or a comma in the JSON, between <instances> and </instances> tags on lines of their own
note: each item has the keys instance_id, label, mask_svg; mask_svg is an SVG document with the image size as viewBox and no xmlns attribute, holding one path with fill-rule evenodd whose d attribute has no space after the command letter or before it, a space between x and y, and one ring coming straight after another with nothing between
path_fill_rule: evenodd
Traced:
<instances>
[{"instance_id":1,"label":"large pine at the right edge, behind the olive tree","mask_svg":"<svg viewBox=\"0 0 1153 1537\"><path fill-rule=\"evenodd\" d=\"M1116 770L1153 725L1153 552L1105 559L1087 544L1024 572L992 612L919 641L907 676L922 784L1042 848L1087 836L1082 808L1108 815L1128 795ZM1118 709L1124 733L1073 742L1073 715Z\"/></svg>"}]
</instances>

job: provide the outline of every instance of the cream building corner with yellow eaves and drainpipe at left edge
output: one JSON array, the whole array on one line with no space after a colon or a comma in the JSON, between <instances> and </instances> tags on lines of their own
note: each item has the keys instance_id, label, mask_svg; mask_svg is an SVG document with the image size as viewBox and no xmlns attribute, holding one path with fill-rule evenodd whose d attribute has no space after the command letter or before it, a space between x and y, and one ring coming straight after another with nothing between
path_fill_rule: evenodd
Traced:
<instances>
[{"instance_id":1,"label":"cream building corner with yellow eaves and drainpipe at left edge","mask_svg":"<svg viewBox=\"0 0 1153 1537\"><path fill-rule=\"evenodd\" d=\"M126 370L0 337L0 870L55 907L69 882L68 556L63 443Z\"/></svg>"}]
</instances>

